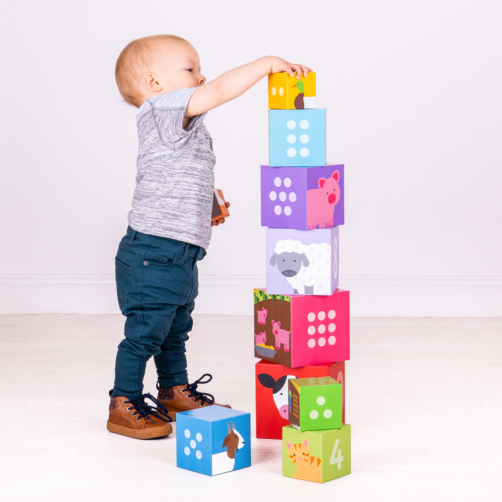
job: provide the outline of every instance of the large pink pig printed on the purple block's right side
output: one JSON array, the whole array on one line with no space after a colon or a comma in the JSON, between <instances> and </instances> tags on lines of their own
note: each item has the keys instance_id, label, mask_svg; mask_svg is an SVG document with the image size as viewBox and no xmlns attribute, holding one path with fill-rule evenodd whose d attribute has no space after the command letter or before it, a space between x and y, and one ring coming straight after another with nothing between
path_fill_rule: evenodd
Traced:
<instances>
[{"instance_id":1,"label":"large pink pig printed on the purple block's right side","mask_svg":"<svg viewBox=\"0 0 502 502\"><path fill-rule=\"evenodd\" d=\"M340 173L335 171L331 178L319 178L319 188L307 190L307 226L319 228L333 226L333 211L340 200L338 181Z\"/></svg>"}]
</instances>

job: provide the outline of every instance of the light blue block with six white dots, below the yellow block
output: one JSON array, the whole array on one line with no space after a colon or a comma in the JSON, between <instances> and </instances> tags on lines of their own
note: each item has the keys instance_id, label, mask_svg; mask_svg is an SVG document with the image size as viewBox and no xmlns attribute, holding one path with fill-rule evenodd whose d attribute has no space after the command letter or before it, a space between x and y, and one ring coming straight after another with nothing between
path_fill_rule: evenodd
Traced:
<instances>
[{"instance_id":1,"label":"light blue block with six white dots, below the yellow block","mask_svg":"<svg viewBox=\"0 0 502 502\"><path fill-rule=\"evenodd\" d=\"M269 165L325 166L325 110L269 110Z\"/></svg>"}]
</instances>

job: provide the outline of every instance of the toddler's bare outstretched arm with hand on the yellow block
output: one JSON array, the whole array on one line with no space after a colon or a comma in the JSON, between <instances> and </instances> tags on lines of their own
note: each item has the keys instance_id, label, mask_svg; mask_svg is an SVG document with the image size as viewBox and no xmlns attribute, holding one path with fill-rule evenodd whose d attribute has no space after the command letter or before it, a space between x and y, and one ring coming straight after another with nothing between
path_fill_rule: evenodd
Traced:
<instances>
[{"instance_id":1,"label":"toddler's bare outstretched arm with hand on the yellow block","mask_svg":"<svg viewBox=\"0 0 502 502\"><path fill-rule=\"evenodd\" d=\"M307 76L312 70L307 66L291 64L275 56L265 56L229 70L211 82L197 87L188 102L185 116L199 115L231 101L253 87L265 75L281 71L288 72L290 75L296 72L299 79L302 73Z\"/></svg>"}]
</instances>

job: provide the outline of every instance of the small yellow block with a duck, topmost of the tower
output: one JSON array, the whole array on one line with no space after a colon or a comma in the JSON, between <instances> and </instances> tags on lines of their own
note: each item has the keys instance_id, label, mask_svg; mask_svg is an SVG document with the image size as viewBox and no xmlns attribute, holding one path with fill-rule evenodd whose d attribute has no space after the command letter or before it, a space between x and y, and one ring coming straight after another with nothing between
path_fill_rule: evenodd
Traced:
<instances>
[{"instance_id":1,"label":"small yellow block with a duck, topmost of the tower","mask_svg":"<svg viewBox=\"0 0 502 502\"><path fill-rule=\"evenodd\" d=\"M296 73L269 73L269 108L280 110L315 108L315 72L308 76Z\"/></svg>"}]
</instances>

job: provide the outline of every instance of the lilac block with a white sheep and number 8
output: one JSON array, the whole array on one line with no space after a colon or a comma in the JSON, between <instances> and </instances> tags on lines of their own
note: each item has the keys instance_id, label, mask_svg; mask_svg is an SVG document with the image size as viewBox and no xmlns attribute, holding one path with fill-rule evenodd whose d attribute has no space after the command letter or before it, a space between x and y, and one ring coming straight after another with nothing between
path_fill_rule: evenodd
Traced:
<instances>
[{"instance_id":1,"label":"lilac block with a white sheep and number 8","mask_svg":"<svg viewBox=\"0 0 502 502\"><path fill-rule=\"evenodd\" d=\"M339 227L265 231L267 292L332 295L338 288Z\"/></svg>"}]
</instances>

